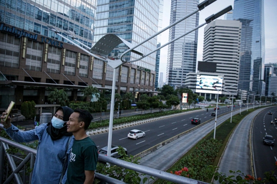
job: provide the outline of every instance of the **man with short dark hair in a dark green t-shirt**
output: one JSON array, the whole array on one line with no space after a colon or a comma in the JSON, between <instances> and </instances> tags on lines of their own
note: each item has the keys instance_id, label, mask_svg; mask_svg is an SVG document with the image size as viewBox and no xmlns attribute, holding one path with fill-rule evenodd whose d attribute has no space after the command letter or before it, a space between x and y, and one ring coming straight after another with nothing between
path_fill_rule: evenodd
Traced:
<instances>
[{"instance_id":1,"label":"man with short dark hair in a dark green t-shirt","mask_svg":"<svg viewBox=\"0 0 277 184\"><path fill-rule=\"evenodd\" d=\"M94 142L86 134L92 119L88 111L76 109L67 121L67 132L72 132L75 140L70 153L66 184L93 183L98 152Z\"/></svg>"}]
</instances>

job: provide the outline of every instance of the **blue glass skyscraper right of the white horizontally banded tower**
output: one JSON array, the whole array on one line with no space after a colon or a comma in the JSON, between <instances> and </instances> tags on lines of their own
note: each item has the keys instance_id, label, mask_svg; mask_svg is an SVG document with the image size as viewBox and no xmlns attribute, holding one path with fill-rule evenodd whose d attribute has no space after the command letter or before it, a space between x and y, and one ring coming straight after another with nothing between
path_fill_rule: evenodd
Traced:
<instances>
[{"instance_id":1,"label":"blue glass skyscraper right of the white horizontally banded tower","mask_svg":"<svg viewBox=\"0 0 277 184\"><path fill-rule=\"evenodd\" d=\"M233 18L242 23L239 89L264 94L264 0L235 0Z\"/></svg>"}]
</instances>

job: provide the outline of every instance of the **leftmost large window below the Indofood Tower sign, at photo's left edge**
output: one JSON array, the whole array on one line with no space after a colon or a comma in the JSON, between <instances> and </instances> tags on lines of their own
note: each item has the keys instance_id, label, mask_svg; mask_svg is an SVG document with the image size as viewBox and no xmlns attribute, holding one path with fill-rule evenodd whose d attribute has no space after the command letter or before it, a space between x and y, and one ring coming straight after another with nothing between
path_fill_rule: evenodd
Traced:
<instances>
[{"instance_id":1,"label":"leftmost large window below the Indofood Tower sign, at photo's left edge","mask_svg":"<svg viewBox=\"0 0 277 184\"><path fill-rule=\"evenodd\" d=\"M0 33L0 66L18 68L20 39Z\"/></svg>"}]
</instances>

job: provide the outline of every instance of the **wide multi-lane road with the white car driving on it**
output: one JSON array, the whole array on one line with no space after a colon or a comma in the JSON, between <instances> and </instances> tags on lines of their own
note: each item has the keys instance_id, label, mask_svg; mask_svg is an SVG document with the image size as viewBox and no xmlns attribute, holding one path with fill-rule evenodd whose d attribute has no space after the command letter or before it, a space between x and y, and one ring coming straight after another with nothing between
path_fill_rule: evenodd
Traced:
<instances>
[{"instance_id":1,"label":"wide multi-lane road with the white car driving on it","mask_svg":"<svg viewBox=\"0 0 277 184\"><path fill-rule=\"evenodd\" d=\"M235 109L239 109L239 106L236 105L233 107L233 110ZM231 107L220 107L220 110L218 110L217 113L218 115L221 115L230 111ZM198 110L188 112L185 115L114 130L112 134L112 145L125 147L128 150L128 154L136 155L162 141L195 127L196 125L191 124L191 119L194 117L201 118L201 124L214 118L214 116L211 116L212 112L214 111L211 109L208 112L206 110ZM132 129L142 130L146 133L146 136L138 138L137 140L128 138L127 134ZM103 148L108 144L108 133L92 135L91 139L95 142L98 149Z\"/></svg>"}]
</instances>

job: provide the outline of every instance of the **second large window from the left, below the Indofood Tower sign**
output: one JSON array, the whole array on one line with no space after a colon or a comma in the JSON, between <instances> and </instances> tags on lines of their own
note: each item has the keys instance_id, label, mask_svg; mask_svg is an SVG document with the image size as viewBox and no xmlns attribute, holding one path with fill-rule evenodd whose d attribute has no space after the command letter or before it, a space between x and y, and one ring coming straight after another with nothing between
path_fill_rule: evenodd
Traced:
<instances>
[{"instance_id":1,"label":"second large window from the left, below the Indofood Tower sign","mask_svg":"<svg viewBox=\"0 0 277 184\"><path fill-rule=\"evenodd\" d=\"M26 53L26 70L41 71L43 44L28 39Z\"/></svg>"}]
</instances>

